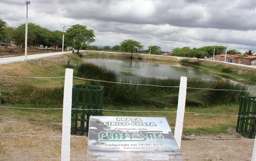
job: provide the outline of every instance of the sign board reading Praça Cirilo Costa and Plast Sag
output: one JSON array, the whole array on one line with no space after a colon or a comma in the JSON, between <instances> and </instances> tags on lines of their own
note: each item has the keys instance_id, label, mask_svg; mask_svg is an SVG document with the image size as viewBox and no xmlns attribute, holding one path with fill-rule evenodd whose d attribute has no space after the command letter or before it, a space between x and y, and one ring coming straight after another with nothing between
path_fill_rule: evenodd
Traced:
<instances>
[{"instance_id":1,"label":"sign board reading Pra\u00e7a Cirilo Costa and Plast Sag","mask_svg":"<svg viewBox=\"0 0 256 161\"><path fill-rule=\"evenodd\" d=\"M165 117L90 116L87 161L183 161Z\"/></svg>"}]
</instances>

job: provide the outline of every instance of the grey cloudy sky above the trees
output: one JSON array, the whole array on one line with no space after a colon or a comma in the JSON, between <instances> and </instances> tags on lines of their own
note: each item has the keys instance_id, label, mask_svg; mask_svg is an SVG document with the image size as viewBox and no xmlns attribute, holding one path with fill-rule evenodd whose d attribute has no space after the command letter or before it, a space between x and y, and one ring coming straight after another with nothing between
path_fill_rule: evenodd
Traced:
<instances>
[{"instance_id":1,"label":"grey cloudy sky above the trees","mask_svg":"<svg viewBox=\"0 0 256 161\"><path fill-rule=\"evenodd\" d=\"M1 0L0 19L9 26L26 22L26 0ZM86 25L92 45L144 45L200 48L222 45L256 52L256 0L30 0L28 22L63 31Z\"/></svg>"}]
</instances>

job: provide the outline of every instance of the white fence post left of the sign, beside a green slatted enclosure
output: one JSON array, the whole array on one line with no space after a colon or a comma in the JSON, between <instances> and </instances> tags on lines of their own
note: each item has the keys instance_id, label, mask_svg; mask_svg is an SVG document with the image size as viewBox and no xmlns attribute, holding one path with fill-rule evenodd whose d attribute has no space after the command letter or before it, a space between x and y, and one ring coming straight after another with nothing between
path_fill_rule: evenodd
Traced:
<instances>
[{"instance_id":1,"label":"white fence post left of the sign, beside a green slatted enclosure","mask_svg":"<svg viewBox=\"0 0 256 161\"><path fill-rule=\"evenodd\" d=\"M70 161L72 86L73 69L66 69L63 97L61 161Z\"/></svg>"}]
</instances>

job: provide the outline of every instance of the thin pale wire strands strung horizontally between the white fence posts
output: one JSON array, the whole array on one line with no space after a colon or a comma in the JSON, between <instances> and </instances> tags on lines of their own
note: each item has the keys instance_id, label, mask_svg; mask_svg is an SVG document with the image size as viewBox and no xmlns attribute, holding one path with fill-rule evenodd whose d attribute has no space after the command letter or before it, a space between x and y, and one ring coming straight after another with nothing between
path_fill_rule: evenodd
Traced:
<instances>
[{"instance_id":1,"label":"thin pale wire strands strung horizontally between the white fence posts","mask_svg":"<svg viewBox=\"0 0 256 161\"><path fill-rule=\"evenodd\" d=\"M12 76L0 76L0 77L12 77ZM14 76L13 76L14 77ZM64 77L19 77L19 78L64 78ZM91 81L100 81L100 82L107 82L107 83L115 83L115 84L130 84L130 83L119 83L119 82L108 82L108 81L101 81L101 80L93 80L93 79L85 79L80 77L73 77L78 79L84 79L84 80L91 80ZM130 85L147 85L147 86L158 86L158 87L168 87L168 88L180 88L180 86L159 86L159 85L150 85L150 84L130 84ZM197 90L220 90L220 89L202 89L202 88L190 88L188 89L197 89ZM231 90L231 91L245 91L245 90ZM248 91L247 92L256 92L256 91ZM38 110L64 110L63 108L53 108L53 109L39 109L39 108L20 108L20 107L8 107L8 106L0 106L0 108L10 108L10 109L38 109ZM93 109L79 109L79 110L93 110ZM134 110L114 110L114 109L99 109L102 111L118 111L118 112L153 112L153 113L177 113L177 111L148 111L148 110L140 110L140 111L134 111ZM230 116L230 117L238 117L239 115L227 115L227 114L212 114L212 113L197 113L197 112L186 112L185 114L194 114L194 115L212 115L212 116ZM253 116L249 116L253 117ZM1 136L16 136L16 137L55 137L55 138L63 138L61 135L18 135L18 134L0 134ZM72 138L87 138L87 136L74 136L71 135ZM255 139L248 139L248 138L215 138L215 137L193 137L193 136L182 136L182 138L185 139L218 139L218 140L252 140L255 141ZM183 158L184 160L207 160L205 158ZM249 161L253 158L241 158L241 159L229 159L229 158L210 158L209 160L227 160L227 161ZM61 158L29 158L29 159L16 159L16 158L0 158L0 160L23 160L23 161L29 161L29 160L61 160ZM76 159L76 158L70 158L69 160L74 161L87 161L83 159Z\"/></svg>"}]
</instances>

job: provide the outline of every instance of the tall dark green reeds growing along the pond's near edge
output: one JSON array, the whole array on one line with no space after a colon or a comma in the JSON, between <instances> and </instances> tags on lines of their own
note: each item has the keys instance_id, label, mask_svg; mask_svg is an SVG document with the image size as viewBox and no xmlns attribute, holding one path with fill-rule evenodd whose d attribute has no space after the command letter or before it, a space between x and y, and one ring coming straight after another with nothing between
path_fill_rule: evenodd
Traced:
<instances>
[{"instance_id":1,"label":"tall dark green reeds growing along the pond's near edge","mask_svg":"<svg viewBox=\"0 0 256 161\"><path fill-rule=\"evenodd\" d=\"M154 105L157 107L175 107L178 103L180 79L175 78L141 78L136 81L121 80L114 71L91 63L78 67L79 77L102 80L90 81L88 84L104 86L104 103L117 105ZM209 81L205 79L188 79L186 105L207 106L209 104L238 102L239 97L248 96L247 87L232 84L229 81ZM211 90L216 89L216 90ZM238 90L238 91L234 91Z\"/></svg>"}]
</instances>

